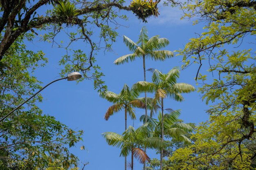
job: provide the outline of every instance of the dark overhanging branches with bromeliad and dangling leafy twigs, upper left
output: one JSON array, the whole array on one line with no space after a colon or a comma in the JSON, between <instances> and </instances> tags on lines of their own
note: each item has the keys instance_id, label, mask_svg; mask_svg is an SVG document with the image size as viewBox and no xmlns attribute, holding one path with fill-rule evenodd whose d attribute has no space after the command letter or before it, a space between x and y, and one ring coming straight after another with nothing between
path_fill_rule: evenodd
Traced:
<instances>
[{"instance_id":1,"label":"dark overhanging branches with bromeliad and dangling leafy twigs, upper left","mask_svg":"<svg viewBox=\"0 0 256 170\"><path fill-rule=\"evenodd\" d=\"M130 7L122 6L124 1L95 1L83 0L1 0L0 11L0 60L7 57L13 43L24 38L24 34L31 32L36 36L31 37L41 41L51 42L53 46L63 48L67 54L60 58L60 65L64 65L61 75L65 76L72 71L83 73L84 79L94 79L94 86L99 91L106 90L99 72L99 66L94 65L95 53L101 47L111 49L115 42L117 32L109 23L115 22L119 16L115 8L130 10ZM13 6L12 4L18 4ZM43 15L42 12L43 11ZM40 13L40 15L38 14ZM94 31L91 26L99 27L99 38L105 42L104 46L94 43L91 36ZM117 26L113 24L112 26ZM36 30L37 29L37 30ZM67 31L69 30L69 31ZM45 33L45 31L47 31ZM68 32L68 33L67 33ZM41 33L41 35L38 35ZM60 42L59 34L67 33L70 40L67 43ZM72 49L74 42L90 44L90 48ZM85 43L85 44L86 44Z\"/></svg>"}]
</instances>

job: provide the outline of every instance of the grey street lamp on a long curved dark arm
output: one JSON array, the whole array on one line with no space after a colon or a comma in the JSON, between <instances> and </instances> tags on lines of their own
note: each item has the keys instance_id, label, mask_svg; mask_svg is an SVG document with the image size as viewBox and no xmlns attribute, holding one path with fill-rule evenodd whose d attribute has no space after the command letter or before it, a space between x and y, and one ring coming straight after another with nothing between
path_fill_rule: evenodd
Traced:
<instances>
[{"instance_id":1,"label":"grey street lamp on a long curved dark arm","mask_svg":"<svg viewBox=\"0 0 256 170\"><path fill-rule=\"evenodd\" d=\"M60 79L56 79L52 82L50 82L49 84L47 84L46 86L44 86L43 88L41 88L38 92L36 92L34 95L32 95L31 97L29 97L25 102L23 102L22 104L20 104L20 106L22 106L23 104L25 104L27 101L29 101L31 98L33 98L35 95L37 95L40 91L42 91L43 89L45 89L47 86L49 86L50 84L57 82L59 80L62 79L67 79L67 81L74 81L77 79L80 79L82 77L82 75L78 72L73 72L67 75L67 77L64 78L60 78ZM7 115L5 115L2 119L0 119L0 122L3 121L6 117L8 117L11 113L13 113L15 110L17 110L18 108L20 108L20 106L16 107L15 109L13 109L10 113L8 113Z\"/></svg>"}]
</instances>

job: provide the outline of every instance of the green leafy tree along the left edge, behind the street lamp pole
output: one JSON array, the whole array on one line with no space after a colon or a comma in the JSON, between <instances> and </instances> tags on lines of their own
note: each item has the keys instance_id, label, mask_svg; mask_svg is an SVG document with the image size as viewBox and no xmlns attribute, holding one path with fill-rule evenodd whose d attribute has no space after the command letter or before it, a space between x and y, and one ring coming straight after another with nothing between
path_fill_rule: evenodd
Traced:
<instances>
[{"instance_id":1,"label":"green leafy tree along the left edge, behind the street lamp pole","mask_svg":"<svg viewBox=\"0 0 256 170\"><path fill-rule=\"evenodd\" d=\"M23 35L33 38L33 34ZM31 72L44 66L47 59L42 51L27 50L19 37L1 60L0 116L3 117L26 97L40 88ZM54 117L43 114L36 106L42 102L37 95L25 106L0 122L0 169L43 170L53 159L61 159L63 167L76 166L78 158L69 152L69 147L81 141L83 131L74 131ZM45 157L45 154L49 157Z\"/></svg>"}]
</instances>

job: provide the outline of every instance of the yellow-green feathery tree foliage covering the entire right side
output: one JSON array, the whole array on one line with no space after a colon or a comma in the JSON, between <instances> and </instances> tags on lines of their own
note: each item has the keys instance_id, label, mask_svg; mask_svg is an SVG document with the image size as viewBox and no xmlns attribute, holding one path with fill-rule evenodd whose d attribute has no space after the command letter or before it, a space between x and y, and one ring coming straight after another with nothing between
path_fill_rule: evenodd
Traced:
<instances>
[{"instance_id":1,"label":"yellow-green feathery tree foliage covering the entire right side","mask_svg":"<svg viewBox=\"0 0 256 170\"><path fill-rule=\"evenodd\" d=\"M254 46L249 49L255 41L255 3L203 0L184 6L184 17L207 23L179 52L184 68L199 64L196 80L202 82L202 99L211 104L210 119L198 126L192 146L173 154L170 169L255 168L256 58ZM209 64L213 81L201 74L202 64Z\"/></svg>"}]
</instances>

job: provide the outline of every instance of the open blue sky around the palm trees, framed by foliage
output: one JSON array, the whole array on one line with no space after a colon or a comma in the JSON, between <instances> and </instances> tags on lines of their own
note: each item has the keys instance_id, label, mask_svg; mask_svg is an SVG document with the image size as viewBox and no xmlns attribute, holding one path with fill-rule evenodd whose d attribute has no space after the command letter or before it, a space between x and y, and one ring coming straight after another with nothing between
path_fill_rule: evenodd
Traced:
<instances>
[{"instance_id":1,"label":"open blue sky around the palm trees, framed by foliage","mask_svg":"<svg viewBox=\"0 0 256 170\"><path fill-rule=\"evenodd\" d=\"M171 7L159 7L160 15L158 18L151 18L148 23L137 20L135 15L128 14L129 20L121 22L125 25L118 29L119 37L113 44L114 52L99 52L97 55L97 64L101 66L103 73L106 75L103 80L108 85L108 90L119 93L124 84L132 86L137 81L143 80L142 60L136 60L124 65L116 66L114 60L122 55L130 53L123 43L122 35L126 35L133 41L137 42L139 31L142 26L148 29L148 36L159 35L161 38L168 38L170 45L166 49L175 51L182 49L189 38L193 38L195 33L202 32L202 25L193 26L191 21L180 20L181 11ZM127 14L127 13L126 13ZM62 37L67 41L65 37ZM96 39L96 38L95 38ZM74 48L80 48L88 51L84 43L76 44ZM58 61L65 54L63 49L52 48L52 44L34 42L29 48L34 50L43 50L45 57L49 58L49 63L44 68L39 68L34 76L38 77L43 85L59 78L61 66ZM175 53L177 54L177 53ZM182 65L182 57L177 56L166 60L165 62L146 61L146 68L157 68L163 73L167 73L171 68ZM194 77L196 75L197 64L181 71L178 82L192 84L196 88ZM208 65L202 66L201 70L207 70ZM151 73L147 73L147 80L150 81ZM42 86L43 86L42 85ZM108 146L106 141L101 137L103 132L111 131L121 134L124 132L124 113L120 112L108 121L104 120L104 114L111 103L99 97L97 91L93 88L93 82L85 80L76 84L76 82L67 82L65 80L56 82L47 87L42 93L43 103L39 104L45 114L53 115L57 120L66 124L70 128L83 130L83 143L72 148L72 152L77 155L82 162L89 161L86 170L121 170L124 168L124 158L119 157L120 149ZM182 103L175 102L171 99L165 100L166 108L181 109L180 119L184 122L193 122L199 124L207 120L208 115L205 113L208 106L202 102L200 94L193 92L184 95L185 101ZM144 110L137 110L137 118L144 114ZM131 121L128 119L128 125L134 124L135 127L141 125L139 120ZM80 146L84 145L85 150ZM154 151L149 152L150 158L159 158ZM128 161L130 157L128 157ZM135 170L140 170L142 165L135 162Z\"/></svg>"}]
</instances>

